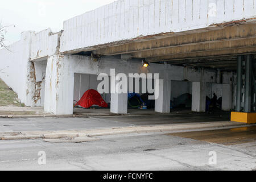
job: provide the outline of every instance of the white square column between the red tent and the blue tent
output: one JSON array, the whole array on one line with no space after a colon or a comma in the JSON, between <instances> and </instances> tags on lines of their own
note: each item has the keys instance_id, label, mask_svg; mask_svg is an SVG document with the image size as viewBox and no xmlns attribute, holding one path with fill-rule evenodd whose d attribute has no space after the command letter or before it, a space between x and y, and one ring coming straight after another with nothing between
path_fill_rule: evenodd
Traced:
<instances>
[{"instance_id":1,"label":"white square column between the red tent and the blue tent","mask_svg":"<svg viewBox=\"0 0 256 182\"><path fill-rule=\"evenodd\" d=\"M117 84L119 81L115 81ZM115 84L111 84L111 90L115 90ZM127 105L128 105L128 94L126 93L117 93L118 90L115 90L115 93L111 94L111 104L110 112L115 114L127 114Z\"/></svg>"}]
</instances>

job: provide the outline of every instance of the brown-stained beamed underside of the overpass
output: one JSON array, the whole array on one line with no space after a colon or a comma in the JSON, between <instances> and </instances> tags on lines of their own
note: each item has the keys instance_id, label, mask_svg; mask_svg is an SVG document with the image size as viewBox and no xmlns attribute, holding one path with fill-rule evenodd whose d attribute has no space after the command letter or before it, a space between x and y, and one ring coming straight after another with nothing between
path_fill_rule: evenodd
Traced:
<instances>
[{"instance_id":1,"label":"brown-stained beamed underside of the overpass","mask_svg":"<svg viewBox=\"0 0 256 182\"><path fill-rule=\"evenodd\" d=\"M236 71L237 55L256 53L256 24L243 21L216 24L201 30L146 36L126 44L66 53L92 53L94 57L118 55L149 63Z\"/></svg>"}]
</instances>

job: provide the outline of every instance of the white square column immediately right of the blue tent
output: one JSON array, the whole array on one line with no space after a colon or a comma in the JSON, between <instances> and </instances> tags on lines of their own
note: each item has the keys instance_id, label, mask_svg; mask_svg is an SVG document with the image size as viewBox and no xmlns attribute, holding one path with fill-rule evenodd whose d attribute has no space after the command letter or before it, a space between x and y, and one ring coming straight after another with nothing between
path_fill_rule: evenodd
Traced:
<instances>
[{"instance_id":1,"label":"white square column immediately right of the blue tent","mask_svg":"<svg viewBox=\"0 0 256 182\"><path fill-rule=\"evenodd\" d=\"M159 79L159 97L155 100L155 111L158 113L170 113L170 102L171 80Z\"/></svg>"}]
</instances>

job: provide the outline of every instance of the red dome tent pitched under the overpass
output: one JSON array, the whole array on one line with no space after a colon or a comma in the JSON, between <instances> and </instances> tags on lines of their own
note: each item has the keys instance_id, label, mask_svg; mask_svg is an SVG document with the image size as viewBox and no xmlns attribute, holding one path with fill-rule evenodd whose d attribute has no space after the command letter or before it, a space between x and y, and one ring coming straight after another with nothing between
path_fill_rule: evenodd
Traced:
<instances>
[{"instance_id":1,"label":"red dome tent pitched under the overpass","mask_svg":"<svg viewBox=\"0 0 256 182\"><path fill-rule=\"evenodd\" d=\"M101 94L93 89L87 90L84 95L82 95L82 98L77 103L77 105L84 108L89 108L93 105L108 107L108 104L106 104L106 102L103 100Z\"/></svg>"}]
</instances>

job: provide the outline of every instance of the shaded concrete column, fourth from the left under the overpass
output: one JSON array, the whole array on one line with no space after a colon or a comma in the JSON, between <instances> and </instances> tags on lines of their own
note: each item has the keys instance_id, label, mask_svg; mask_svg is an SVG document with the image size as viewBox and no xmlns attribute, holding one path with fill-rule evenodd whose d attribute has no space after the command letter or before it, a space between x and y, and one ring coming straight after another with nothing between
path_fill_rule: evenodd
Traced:
<instances>
[{"instance_id":1,"label":"shaded concrete column, fourth from the left under the overpass","mask_svg":"<svg viewBox=\"0 0 256 182\"><path fill-rule=\"evenodd\" d=\"M192 85L192 111L205 112L205 82L193 82Z\"/></svg>"}]
</instances>

